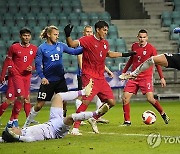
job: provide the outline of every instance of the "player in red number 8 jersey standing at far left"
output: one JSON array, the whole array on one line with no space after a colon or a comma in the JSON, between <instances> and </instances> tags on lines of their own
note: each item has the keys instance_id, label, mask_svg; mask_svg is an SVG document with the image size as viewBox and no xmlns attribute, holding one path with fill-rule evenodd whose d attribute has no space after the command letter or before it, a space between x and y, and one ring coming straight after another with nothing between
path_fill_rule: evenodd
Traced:
<instances>
[{"instance_id":1,"label":"player in red number 8 jersey standing at far left","mask_svg":"<svg viewBox=\"0 0 180 154\"><path fill-rule=\"evenodd\" d=\"M18 115L23 103L26 117L29 115L31 109L29 91L32 71L34 69L32 63L36 56L37 47L30 44L30 29L22 28L19 33L21 43L16 42L9 47L0 78L0 82L4 82L6 71L8 70L6 100L0 106L1 116L6 108L14 102L12 115L7 124L8 127L18 127Z\"/></svg>"}]
</instances>

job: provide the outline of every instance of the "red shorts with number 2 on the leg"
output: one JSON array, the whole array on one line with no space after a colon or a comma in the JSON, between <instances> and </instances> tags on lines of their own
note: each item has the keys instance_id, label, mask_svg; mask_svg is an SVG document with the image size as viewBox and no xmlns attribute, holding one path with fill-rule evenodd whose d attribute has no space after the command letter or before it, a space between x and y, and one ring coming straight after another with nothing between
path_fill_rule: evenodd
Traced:
<instances>
[{"instance_id":1,"label":"red shorts with number 2 on the leg","mask_svg":"<svg viewBox=\"0 0 180 154\"><path fill-rule=\"evenodd\" d=\"M153 92L152 78L137 78L135 80L128 80L124 88L124 92L137 94L138 90L141 90L142 94L145 95L147 92Z\"/></svg>"}]
</instances>

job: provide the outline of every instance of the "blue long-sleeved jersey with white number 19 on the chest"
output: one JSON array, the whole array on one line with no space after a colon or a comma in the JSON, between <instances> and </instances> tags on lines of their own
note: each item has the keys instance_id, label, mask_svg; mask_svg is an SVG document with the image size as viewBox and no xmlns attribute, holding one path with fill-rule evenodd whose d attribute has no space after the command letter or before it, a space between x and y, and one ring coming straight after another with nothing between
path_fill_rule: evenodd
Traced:
<instances>
[{"instance_id":1,"label":"blue long-sleeved jersey with white number 19 on the chest","mask_svg":"<svg viewBox=\"0 0 180 154\"><path fill-rule=\"evenodd\" d=\"M48 81L58 81L64 78L62 53L78 55L83 52L82 48L70 48L66 44L57 42L53 45L44 42L38 47L35 65L40 78Z\"/></svg>"}]
</instances>

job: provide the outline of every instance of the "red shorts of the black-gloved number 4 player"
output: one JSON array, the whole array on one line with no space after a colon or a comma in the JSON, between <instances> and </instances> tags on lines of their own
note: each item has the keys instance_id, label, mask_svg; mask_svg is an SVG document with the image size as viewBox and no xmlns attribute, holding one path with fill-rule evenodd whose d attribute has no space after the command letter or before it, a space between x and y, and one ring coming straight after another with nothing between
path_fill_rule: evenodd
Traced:
<instances>
[{"instance_id":1,"label":"red shorts of the black-gloved number 4 player","mask_svg":"<svg viewBox=\"0 0 180 154\"><path fill-rule=\"evenodd\" d=\"M92 77L89 75L82 75L83 87L85 87L89 83L90 78ZM92 94L89 97L83 96L83 100L92 101L95 95L97 95L102 102L105 102L105 100L108 99L114 99L113 91L106 79L92 79L94 82Z\"/></svg>"}]
</instances>

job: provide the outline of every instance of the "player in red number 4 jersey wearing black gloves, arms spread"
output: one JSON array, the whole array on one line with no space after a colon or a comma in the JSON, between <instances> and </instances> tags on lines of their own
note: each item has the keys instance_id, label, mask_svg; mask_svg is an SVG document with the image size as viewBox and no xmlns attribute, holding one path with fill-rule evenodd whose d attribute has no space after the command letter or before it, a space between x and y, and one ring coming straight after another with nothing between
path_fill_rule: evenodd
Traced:
<instances>
[{"instance_id":1,"label":"player in red number 4 jersey wearing black gloves, arms spread","mask_svg":"<svg viewBox=\"0 0 180 154\"><path fill-rule=\"evenodd\" d=\"M82 57L82 84L85 86L89 79L94 81L93 92L89 97L83 96L83 102L77 109L76 113L83 112L87 109L89 103L95 95L97 95L102 102L109 105L109 108L115 105L115 99L111 87L104 77L105 59L106 57L117 58L134 55L134 52L121 53L112 52L109 50L108 41L105 39L109 25L105 21L98 21L95 23L95 35L84 36L79 40L72 40L70 37L73 26L68 24L65 28L66 41L71 47L81 46L83 48ZM98 119L100 116L94 117ZM99 133L96 120L91 120L91 126L95 133ZM79 132L80 121L74 123L73 132L77 135L82 135Z\"/></svg>"}]
</instances>

